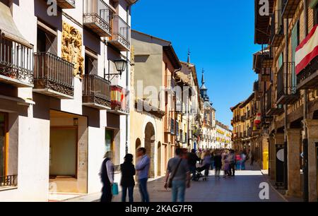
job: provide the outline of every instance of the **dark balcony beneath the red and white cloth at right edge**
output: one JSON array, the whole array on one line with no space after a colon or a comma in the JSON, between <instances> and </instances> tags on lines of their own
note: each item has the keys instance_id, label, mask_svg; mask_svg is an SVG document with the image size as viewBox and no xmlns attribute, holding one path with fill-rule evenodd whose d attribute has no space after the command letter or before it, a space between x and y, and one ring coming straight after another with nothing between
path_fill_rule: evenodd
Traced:
<instances>
[{"instance_id":1,"label":"dark balcony beneath the red and white cloth at right edge","mask_svg":"<svg viewBox=\"0 0 318 216\"><path fill-rule=\"evenodd\" d=\"M298 89L316 89L318 88L318 56L297 75Z\"/></svg>"}]
</instances>

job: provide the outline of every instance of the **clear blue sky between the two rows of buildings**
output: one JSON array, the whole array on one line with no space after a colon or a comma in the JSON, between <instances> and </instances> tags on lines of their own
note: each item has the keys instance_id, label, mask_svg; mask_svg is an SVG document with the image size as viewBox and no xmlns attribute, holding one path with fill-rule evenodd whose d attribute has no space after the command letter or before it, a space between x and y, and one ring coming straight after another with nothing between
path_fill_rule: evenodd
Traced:
<instances>
[{"instance_id":1,"label":"clear blue sky between the two rows of buildings","mask_svg":"<svg viewBox=\"0 0 318 216\"><path fill-rule=\"evenodd\" d=\"M172 42L179 59L196 64L201 82L204 68L208 95L216 118L230 125L230 107L252 93L254 1L139 0L132 8L131 25Z\"/></svg>"}]
</instances>

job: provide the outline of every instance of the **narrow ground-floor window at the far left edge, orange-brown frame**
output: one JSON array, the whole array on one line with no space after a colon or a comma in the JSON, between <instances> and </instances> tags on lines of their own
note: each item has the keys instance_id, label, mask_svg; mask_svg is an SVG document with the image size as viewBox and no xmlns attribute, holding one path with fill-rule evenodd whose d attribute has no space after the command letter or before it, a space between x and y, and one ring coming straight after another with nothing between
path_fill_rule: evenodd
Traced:
<instances>
[{"instance_id":1,"label":"narrow ground-floor window at the far left edge, orange-brown frame","mask_svg":"<svg viewBox=\"0 0 318 216\"><path fill-rule=\"evenodd\" d=\"M0 176L6 176L8 114L0 112ZM1 184L1 182L0 182Z\"/></svg>"}]
</instances>

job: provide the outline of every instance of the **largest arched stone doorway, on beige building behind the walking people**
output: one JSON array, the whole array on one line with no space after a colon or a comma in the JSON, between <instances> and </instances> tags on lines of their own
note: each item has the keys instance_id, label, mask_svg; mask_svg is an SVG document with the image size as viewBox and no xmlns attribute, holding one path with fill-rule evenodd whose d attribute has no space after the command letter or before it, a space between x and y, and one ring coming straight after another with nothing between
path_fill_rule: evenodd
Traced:
<instances>
[{"instance_id":1,"label":"largest arched stone doorway, on beige building behind the walking people","mask_svg":"<svg viewBox=\"0 0 318 216\"><path fill-rule=\"evenodd\" d=\"M155 158L155 128L151 122L148 122L145 128L145 148L147 155L151 158L151 167L149 170L149 177L155 177L154 158Z\"/></svg>"}]
</instances>

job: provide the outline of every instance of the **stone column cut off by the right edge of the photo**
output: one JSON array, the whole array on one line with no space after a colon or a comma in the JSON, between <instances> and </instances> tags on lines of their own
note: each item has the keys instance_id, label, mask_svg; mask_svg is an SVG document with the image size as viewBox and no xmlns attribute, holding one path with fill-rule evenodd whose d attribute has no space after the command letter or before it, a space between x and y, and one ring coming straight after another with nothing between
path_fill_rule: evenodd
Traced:
<instances>
[{"instance_id":1,"label":"stone column cut off by the right edge of the photo","mask_svg":"<svg viewBox=\"0 0 318 216\"><path fill-rule=\"evenodd\" d=\"M318 120L306 119L308 131L308 188L309 201L317 202L317 150Z\"/></svg>"}]
</instances>

